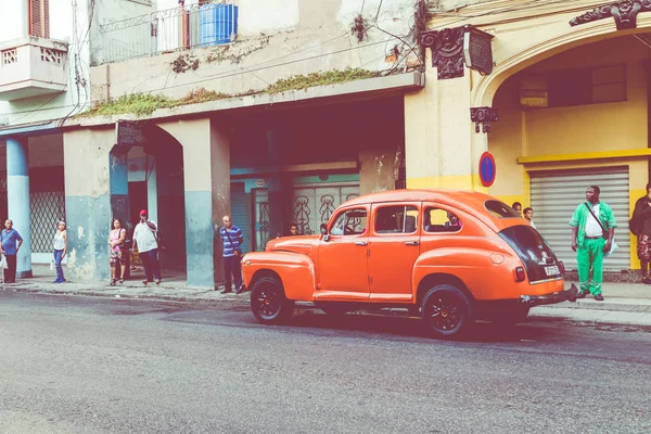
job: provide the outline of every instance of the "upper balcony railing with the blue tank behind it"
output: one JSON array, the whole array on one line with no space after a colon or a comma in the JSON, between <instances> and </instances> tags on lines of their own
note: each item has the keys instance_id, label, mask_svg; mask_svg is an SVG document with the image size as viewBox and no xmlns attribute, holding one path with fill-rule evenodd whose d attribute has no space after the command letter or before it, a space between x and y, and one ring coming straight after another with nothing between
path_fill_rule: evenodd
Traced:
<instances>
[{"instance_id":1,"label":"upper balcony railing with the blue tank behind it","mask_svg":"<svg viewBox=\"0 0 651 434\"><path fill-rule=\"evenodd\" d=\"M230 43L238 34L234 0L179 7L100 27L97 63L120 62L177 50Z\"/></svg>"}]
</instances>

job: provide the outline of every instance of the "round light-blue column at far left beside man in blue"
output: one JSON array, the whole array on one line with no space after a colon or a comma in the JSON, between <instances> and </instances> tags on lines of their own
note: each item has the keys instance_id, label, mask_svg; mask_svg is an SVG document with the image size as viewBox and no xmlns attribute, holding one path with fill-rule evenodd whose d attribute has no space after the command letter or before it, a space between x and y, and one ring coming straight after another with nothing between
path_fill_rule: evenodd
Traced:
<instances>
[{"instance_id":1,"label":"round light-blue column at far left beside man in blue","mask_svg":"<svg viewBox=\"0 0 651 434\"><path fill-rule=\"evenodd\" d=\"M7 204L8 217L23 238L23 245L16 257L16 276L30 278L31 212L29 209L29 156L26 138L7 140Z\"/></svg>"}]
</instances>

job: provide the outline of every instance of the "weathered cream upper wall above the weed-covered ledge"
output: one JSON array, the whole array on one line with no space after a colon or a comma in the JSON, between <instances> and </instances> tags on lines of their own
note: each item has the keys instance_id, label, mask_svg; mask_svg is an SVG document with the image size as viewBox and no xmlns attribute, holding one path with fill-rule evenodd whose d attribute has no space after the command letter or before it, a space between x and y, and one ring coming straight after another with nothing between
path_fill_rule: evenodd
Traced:
<instances>
[{"instance_id":1,"label":"weathered cream upper wall above the weed-covered ledge","mask_svg":"<svg viewBox=\"0 0 651 434\"><path fill-rule=\"evenodd\" d=\"M362 15L369 24L378 11L379 26L392 34L409 33L412 0L367 0ZM386 55L398 40L369 28L359 42L350 35L362 2L311 0L240 1L239 35L234 43L133 59L91 68L93 101L127 93L153 92L182 97L196 88L227 94L260 90L291 75L362 67L383 71L394 65ZM97 47L93 40L93 46ZM199 61L196 69L175 73L171 64Z\"/></svg>"}]
</instances>

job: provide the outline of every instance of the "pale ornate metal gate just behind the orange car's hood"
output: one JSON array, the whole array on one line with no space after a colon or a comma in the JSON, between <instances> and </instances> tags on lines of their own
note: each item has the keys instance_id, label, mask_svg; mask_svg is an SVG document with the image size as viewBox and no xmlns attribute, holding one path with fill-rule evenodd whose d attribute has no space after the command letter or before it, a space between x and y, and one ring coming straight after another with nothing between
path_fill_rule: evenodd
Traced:
<instances>
[{"instance_id":1,"label":"pale ornate metal gate just behind the orange car's hood","mask_svg":"<svg viewBox=\"0 0 651 434\"><path fill-rule=\"evenodd\" d=\"M359 196L359 184L355 186L296 186L292 215L298 225L298 233L319 233L321 224L328 222L337 206Z\"/></svg>"}]
</instances>

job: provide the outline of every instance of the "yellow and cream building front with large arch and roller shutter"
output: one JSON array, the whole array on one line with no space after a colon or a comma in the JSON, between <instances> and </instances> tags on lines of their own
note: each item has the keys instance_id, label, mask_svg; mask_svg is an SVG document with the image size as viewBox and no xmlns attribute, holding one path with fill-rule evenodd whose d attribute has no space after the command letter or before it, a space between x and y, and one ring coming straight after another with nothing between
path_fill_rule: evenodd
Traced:
<instances>
[{"instance_id":1,"label":"yellow and cream building front with large arch and roller shutter","mask_svg":"<svg viewBox=\"0 0 651 434\"><path fill-rule=\"evenodd\" d=\"M425 89L405 100L407 186L484 189L533 206L569 268L567 221L586 188L600 186L621 247L604 267L639 268L628 219L649 180L651 4L447 3L421 36ZM460 58L471 28L487 34L489 74ZM486 151L497 166L489 188L480 181Z\"/></svg>"}]
</instances>

